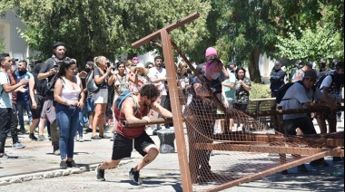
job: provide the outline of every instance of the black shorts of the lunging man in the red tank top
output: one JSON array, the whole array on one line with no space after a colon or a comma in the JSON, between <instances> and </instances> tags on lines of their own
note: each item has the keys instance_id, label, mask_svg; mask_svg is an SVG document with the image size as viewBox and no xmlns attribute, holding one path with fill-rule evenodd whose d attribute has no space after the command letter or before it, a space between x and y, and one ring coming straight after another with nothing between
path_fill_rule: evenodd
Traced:
<instances>
[{"instance_id":1,"label":"black shorts of the lunging man in the red tank top","mask_svg":"<svg viewBox=\"0 0 345 192\"><path fill-rule=\"evenodd\" d=\"M147 153L143 149L150 145L155 144L146 132L143 132L141 136L135 139L127 139L120 134L116 134L115 139L113 139L112 159L131 158L133 149L136 149L142 156L145 156Z\"/></svg>"}]
</instances>

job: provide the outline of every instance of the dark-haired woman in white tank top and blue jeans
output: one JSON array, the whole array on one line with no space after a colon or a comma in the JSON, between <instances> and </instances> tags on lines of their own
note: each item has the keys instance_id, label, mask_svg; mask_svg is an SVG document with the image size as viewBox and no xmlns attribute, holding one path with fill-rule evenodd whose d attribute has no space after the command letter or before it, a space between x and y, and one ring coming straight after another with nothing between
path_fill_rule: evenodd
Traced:
<instances>
[{"instance_id":1,"label":"dark-haired woman in white tank top and blue jeans","mask_svg":"<svg viewBox=\"0 0 345 192\"><path fill-rule=\"evenodd\" d=\"M67 59L60 64L56 74L54 100L56 120L60 129L60 168L77 167L74 162L74 136L79 124L79 109L84 107L83 85L77 74L74 60Z\"/></svg>"}]
</instances>

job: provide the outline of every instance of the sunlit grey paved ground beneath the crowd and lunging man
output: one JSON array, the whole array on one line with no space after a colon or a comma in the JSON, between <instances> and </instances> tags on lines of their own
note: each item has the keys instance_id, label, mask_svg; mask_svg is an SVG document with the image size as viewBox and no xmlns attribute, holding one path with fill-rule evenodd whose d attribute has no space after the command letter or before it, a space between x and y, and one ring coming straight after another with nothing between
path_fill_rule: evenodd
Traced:
<instances>
[{"instance_id":1,"label":"sunlit grey paved ground beneath the crowd and lunging man","mask_svg":"<svg viewBox=\"0 0 345 192\"><path fill-rule=\"evenodd\" d=\"M90 137L84 135L84 139ZM158 137L152 138L159 145ZM128 171L141 158L137 152L133 152L133 158L124 159L119 168L106 170L106 182L96 181L95 166L112 154L109 139L76 142L74 159L84 168L67 170L59 169L60 157L52 154L50 142L30 141L28 135L21 136L21 140L25 149L10 148L11 139L7 139L7 154L17 158L0 160L0 191L182 191L177 153L160 154L142 170L143 185L135 186ZM331 157L326 159L328 168L307 165L310 172L305 174L291 168L288 175L274 174L225 191L344 191L343 176L330 176L333 172L343 173L343 162L333 164Z\"/></svg>"}]
</instances>

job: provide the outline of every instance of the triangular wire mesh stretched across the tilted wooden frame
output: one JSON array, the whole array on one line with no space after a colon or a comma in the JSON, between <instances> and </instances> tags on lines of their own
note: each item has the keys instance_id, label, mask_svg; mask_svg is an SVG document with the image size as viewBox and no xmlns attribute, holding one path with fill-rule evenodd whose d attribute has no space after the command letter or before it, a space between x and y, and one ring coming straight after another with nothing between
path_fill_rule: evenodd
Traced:
<instances>
[{"instance_id":1,"label":"triangular wire mesh stretched across the tilted wooden frame","mask_svg":"<svg viewBox=\"0 0 345 192\"><path fill-rule=\"evenodd\" d=\"M179 91L179 99L185 104L182 119L195 191L211 190L334 148L312 138L285 137L266 121L241 110L220 107L210 98L192 99Z\"/></svg>"}]
</instances>

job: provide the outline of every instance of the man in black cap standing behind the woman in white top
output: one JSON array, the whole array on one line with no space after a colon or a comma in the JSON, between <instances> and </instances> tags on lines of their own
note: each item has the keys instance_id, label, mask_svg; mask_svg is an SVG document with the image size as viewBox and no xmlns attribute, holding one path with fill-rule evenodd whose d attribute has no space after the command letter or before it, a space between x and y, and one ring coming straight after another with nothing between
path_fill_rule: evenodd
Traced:
<instances>
[{"instance_id":1,"label":"man in black cap standing behind the woman in white top","mask_svg":"<svg viewBox=\"0 0 345 192\"><path fill-rule=\"evenodd\" d=\"M65 59L65 44L58 42L53 45L53 56L44 62L41 71L38 74L38 80L46 80L48 83L48 91L44 98L44 107L42 109L41 118L47 119L51 123L51 139L54 155L60 155L59 138L60 133L56 122L56 113L54 107L54 84L56 82L56 73L59 72L60 65ZM40 126L44 126L40 123Z\"/></svg>"}]
</instances>

